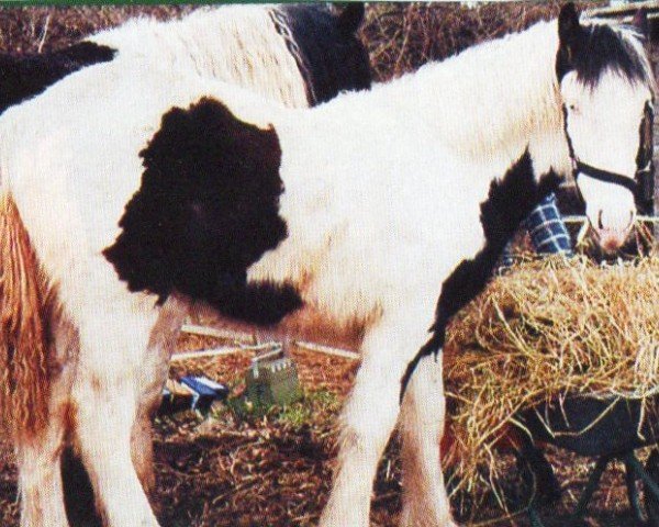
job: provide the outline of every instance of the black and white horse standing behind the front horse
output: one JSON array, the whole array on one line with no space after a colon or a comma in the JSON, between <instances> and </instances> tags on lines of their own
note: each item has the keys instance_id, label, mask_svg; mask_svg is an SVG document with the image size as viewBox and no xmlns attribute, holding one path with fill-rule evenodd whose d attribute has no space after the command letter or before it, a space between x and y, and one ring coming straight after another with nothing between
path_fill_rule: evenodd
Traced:
<instances>
[{"instance_id":1,"label":"black and white horse standing behind the front horse","mask_svg":"<svg viewBox=\"0 0 659 527\"><path fill-rule=\"evenodd\" d=\"M356 37L362 18L364 5L353 3L340 11L312 4L226 7L200 9L168 22L137 19L64 49L0 55L0 113L82 68L97 66L105 89L112 90L113 78L139 68L137 75L148 81L149 68L161 64L172 75L217 78L254 89L273 102L305 108L339 91L370 87L368 55ZM150 357L142 372L132 458L145 489L153 485L150 421L170 348ZM52 438L54 444L60 439ZM75 442L75 437L69 440ZM100 525L85 483L87 474L68 450L63 455L63 475L69 520ZM31 501L30 495L23 489L24 502ZM35 508L26 511L23 524L37 523Z\"/></svg>"}]
</instances>

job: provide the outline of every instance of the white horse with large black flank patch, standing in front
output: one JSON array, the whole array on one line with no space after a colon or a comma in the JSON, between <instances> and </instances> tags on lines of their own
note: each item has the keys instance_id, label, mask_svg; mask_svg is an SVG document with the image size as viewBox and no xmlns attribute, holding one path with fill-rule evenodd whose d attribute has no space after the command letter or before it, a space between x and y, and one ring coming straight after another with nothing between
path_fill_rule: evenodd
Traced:
<instances>
[{"instance_id":1,"label":"white horse with large black flank patch, standing in front","mask_svg":"<svg viewBox=\"0 0 659 527\"><path fill-rule=\"evenodd\" d=\"M3 336L51 335L13 354L27 350L51 383L30 414L38 418L9 405L24 492L57 490L44 438L69 427L108 524L156 526L130 449L145 362L191 300L261 324L311 304L365 325L321 525L368 525L399 414L401 522L454 525L433 354L561 177L574 172L604 246L628 236L655 87L639 34L582 25L568 4L558 21L310 110L167 68L149 82L137 69L113 79L115 94L99 104L109 79L90 69L0 122L3 295L24 306L7 310ZM40 368L44 356L57 367ZM53 493L27 495L57 518L49 525L65 525Z\"/></svg>"}]
</instances>

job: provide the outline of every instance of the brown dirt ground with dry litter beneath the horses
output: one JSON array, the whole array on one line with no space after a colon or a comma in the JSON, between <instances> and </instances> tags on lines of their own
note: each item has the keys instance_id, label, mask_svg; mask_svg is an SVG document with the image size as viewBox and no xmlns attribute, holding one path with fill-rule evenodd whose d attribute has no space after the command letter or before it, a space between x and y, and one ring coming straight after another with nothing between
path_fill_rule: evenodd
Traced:
<instances>
[{"instance_id":1,"label":"brown dirt ground with dry litter beneath the horses","mask_svg":"<svg viewBox=\"0 0 659 527\"><path fill-rule=\"evenodd\" d=\"M223 341L186 337L181 350L209 349ZM201 373L227 382L235 396L253 351L221 358L175 362L171 377ZM157 419L155 468L157 486L152 496L164 527L286 527L310 526L328 495L332 479L336 416L351 385L358 363L293 348L306 392L302 403L273 408L266 416L236 412L226 405L202 417L192 412ZM320 386L320 388L319 388ZM549 458L563 489L558 506L543 509L547 527L567 525L588 479L593 460L556 450ZM524 486L512 460L501 484L510 495ZM7 442L0 441L0 525L18 526L16 471ZM462 496L462 498L469 496ZM503 515L494 504L479 511L454 505L469 525L528 526L524 515L492 522ZM394 437L380 464L375 486L371 525L398 525L401 508L399 444ZM616 462L595 494L584 525L630 527L624 472ZM484 523L483 523L484 522Z\"/></svg>"}]
</instances>

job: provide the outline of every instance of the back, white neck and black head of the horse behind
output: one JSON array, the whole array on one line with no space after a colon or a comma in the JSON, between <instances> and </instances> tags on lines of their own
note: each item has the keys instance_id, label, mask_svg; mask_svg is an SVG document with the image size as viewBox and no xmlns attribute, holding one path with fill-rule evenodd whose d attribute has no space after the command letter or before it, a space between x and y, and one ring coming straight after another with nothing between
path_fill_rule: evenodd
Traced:
<instances>
[{"instance_id":1,"label":"back, white neck and black head of the horse behind","mask_svg":"<svg viewBox=\"0 0 659 527\"><path fill-rule=\"evenodd\" d=\"M364 5L353 3L338 12L227 5L166 22L130 20L64 49L0 55L0 113L79 69L134 59L235 82L289 106L317 104L370 87L368 55L355 36L362 16Z\"/></svg>"}]
</instances>

